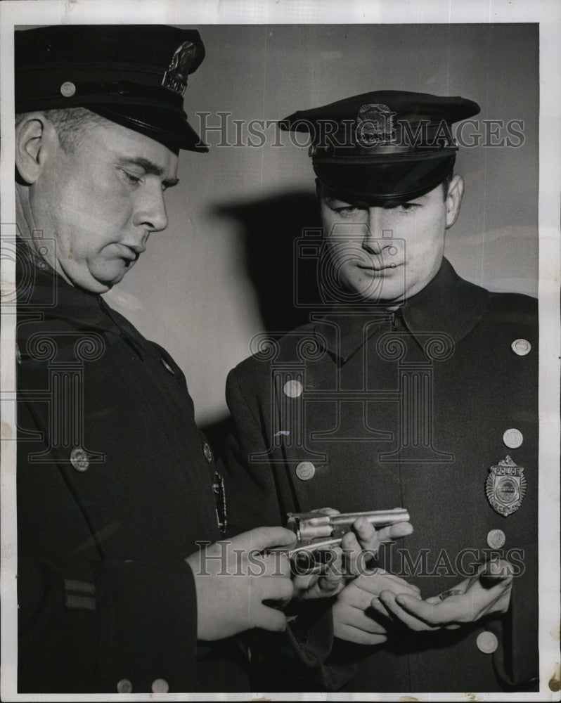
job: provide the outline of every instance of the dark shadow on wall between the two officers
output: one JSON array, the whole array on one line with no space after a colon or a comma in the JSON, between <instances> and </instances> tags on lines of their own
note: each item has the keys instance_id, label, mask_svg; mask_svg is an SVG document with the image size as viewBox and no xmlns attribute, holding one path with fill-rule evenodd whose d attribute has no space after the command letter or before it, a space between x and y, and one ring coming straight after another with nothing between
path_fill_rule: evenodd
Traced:
<instances>
[{"instance_id":1,"label":"dark shadow on wall between the two officers","mask_svg":"<svg viewBox=\"0 0 561 703\"><path fill-rule=\"evenodd\" d=\"M299 302L317 299L314 262L302 269L295 266L295 248L304 229L319 230L321 218L316 196L302 191L281 193L236 205L217 205L213 215L236 221L245 246L249 278L262 318L264 332L288 332L309 321L309 308ZM313 258L313 257L312 257ZM226 417L201 428L217 456L223 456L224 439L231 429Z\"/></svg>"}]
</instances>

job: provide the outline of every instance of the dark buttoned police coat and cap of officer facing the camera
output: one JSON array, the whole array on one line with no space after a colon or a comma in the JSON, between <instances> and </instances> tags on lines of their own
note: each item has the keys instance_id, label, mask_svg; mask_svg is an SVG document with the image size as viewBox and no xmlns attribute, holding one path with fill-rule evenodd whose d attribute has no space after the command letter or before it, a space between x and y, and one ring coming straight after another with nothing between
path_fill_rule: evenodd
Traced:
<instances>
[{"instance_id":1,"label":"dark buttoned police coat and cap of officer facing the camera","mask_svg":"<svg viewBox=\"0 0 561 703\"><path fill-rule=\"evenodd\" d=\"M363 144L347 144L346 153L337 152L340 138L312 154L318 178L349 202L358 196L382 205L434 188L455 151L444 142L426 161L411 145L393 152L379 113L424 113L437 129L438 117L450 123L475 114L474 105L370 93L296 113L285 124L342 122L376 108L382 150L369 155ZM379 565L415 583L423 598L455 588L492 557L509 560L515 579L504 615L427 633L387 624L384 645L335 640L327 666L347 678L343 691L532 690L536 300L468 283L443 259L430 283L396 311L344 299L327 307L280 339L257 337L253 356L228 377L236 423L226 481L233 529L277 524L286 512L322 505L344 512L406 508L415 531L382 548Z\"/></svg>"}]
</instances>

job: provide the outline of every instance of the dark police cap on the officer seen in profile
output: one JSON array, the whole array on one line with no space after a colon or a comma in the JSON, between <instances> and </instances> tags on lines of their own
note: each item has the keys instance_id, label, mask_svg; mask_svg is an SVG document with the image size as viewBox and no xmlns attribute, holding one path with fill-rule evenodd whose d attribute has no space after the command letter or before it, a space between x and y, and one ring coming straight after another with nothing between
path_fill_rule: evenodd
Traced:
<instances>
[{"instance_id":1,"label":"dark police cap on the officer seen in profile","mask_svg":"<svg viewBox=\"0 0 561 703\"><path fill-rule=\"evenodd\" d=\"M207 151L183 111L205 58L196 30L60 25L15 32L15 112L87 108L174 152Z\"/></svg>"}]
</instances>

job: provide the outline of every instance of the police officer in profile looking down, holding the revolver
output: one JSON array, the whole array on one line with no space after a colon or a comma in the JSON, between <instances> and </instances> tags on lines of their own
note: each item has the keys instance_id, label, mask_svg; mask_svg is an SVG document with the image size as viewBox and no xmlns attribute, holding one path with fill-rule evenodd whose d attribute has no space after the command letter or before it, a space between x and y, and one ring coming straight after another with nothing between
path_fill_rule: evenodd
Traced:
<instances>
[{"instance_id":1,"label":"police officer in profile looking down, holding the revolver","mask_svg":"<svg viewBox=\"0 0 561 703\"><path fill-rule=\"evenodd\" d=\"M204 56L174 27L16 32L20 692L248 690L235 636L286 627L288 560L248 559L294 535L219 541L183 373L101 297L167 226L179 150L207 151L183 112Z\"/></svg>"}]
</instances>

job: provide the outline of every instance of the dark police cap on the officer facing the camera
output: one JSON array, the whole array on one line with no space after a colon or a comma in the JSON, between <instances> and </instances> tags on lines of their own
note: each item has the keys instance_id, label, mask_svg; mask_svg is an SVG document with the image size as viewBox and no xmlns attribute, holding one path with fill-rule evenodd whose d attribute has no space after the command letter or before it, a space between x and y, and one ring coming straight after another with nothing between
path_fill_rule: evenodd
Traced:
<instances>
[{"instance_id":1,"label":"dark police cap on the officer facing the camera","mask_svg":"<svg viewBox=\"0 0 561 703\"><path fill-rule=\"evenodd\" d=\"M451 125L479 109L460 97L373 91L294 112L280 128L309 132L314 171L326 186L383 204L435 188L456 160Z\"/></svg>"}]
</instances>

